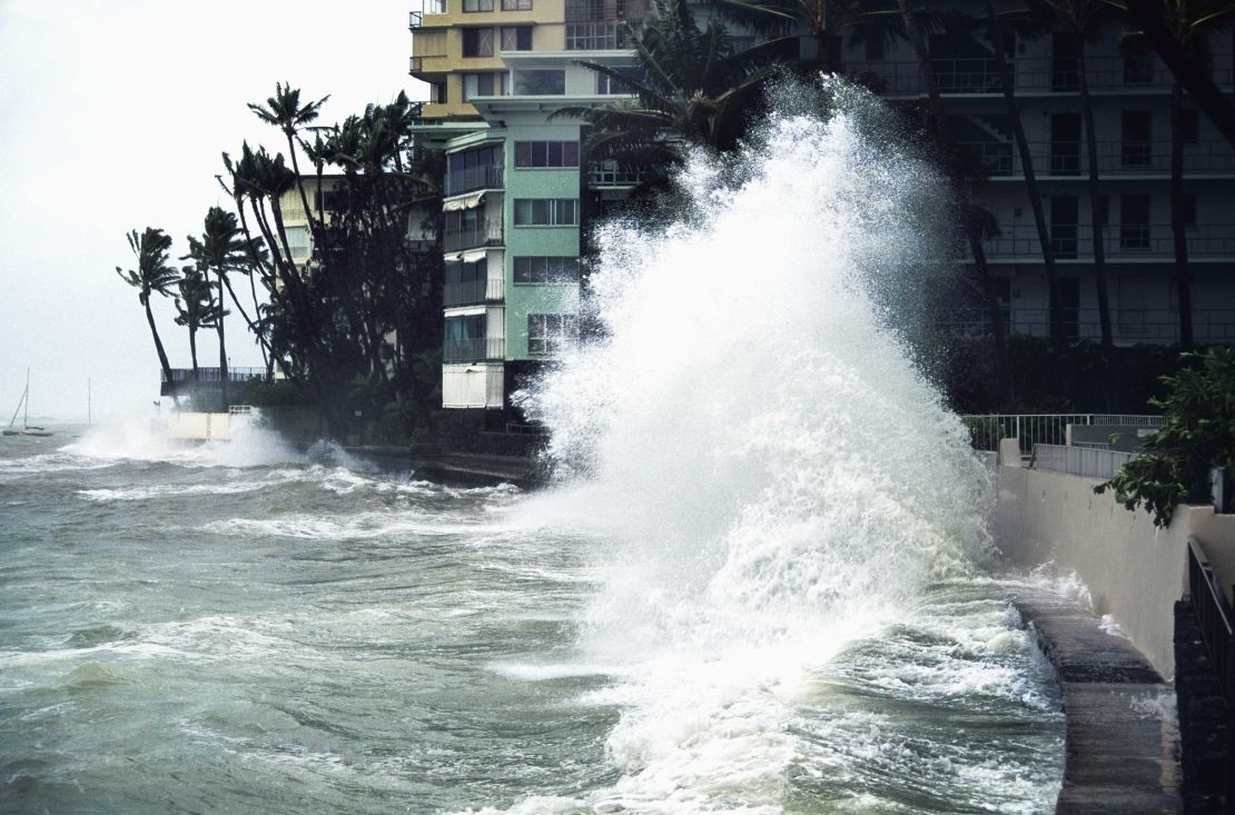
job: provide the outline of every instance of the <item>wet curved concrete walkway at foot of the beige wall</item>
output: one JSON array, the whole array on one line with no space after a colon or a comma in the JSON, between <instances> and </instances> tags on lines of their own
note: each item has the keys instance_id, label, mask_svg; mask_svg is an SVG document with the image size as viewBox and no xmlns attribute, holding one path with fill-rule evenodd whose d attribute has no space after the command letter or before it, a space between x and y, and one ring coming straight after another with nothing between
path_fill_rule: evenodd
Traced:
<instances>
[{"instance_id":1,"label":"wet curved concrete walkway at foot of the beige wall","mask_svg":"<svg viewBox=\"0 0 1235 815\"><path fill-rule=\"evenodd\" d=\"M1046 593L1014 596L1058 674L1066 717L1056 813L1181 813L1174 689L1088 609Z\"/></svg>"}]
</instances>

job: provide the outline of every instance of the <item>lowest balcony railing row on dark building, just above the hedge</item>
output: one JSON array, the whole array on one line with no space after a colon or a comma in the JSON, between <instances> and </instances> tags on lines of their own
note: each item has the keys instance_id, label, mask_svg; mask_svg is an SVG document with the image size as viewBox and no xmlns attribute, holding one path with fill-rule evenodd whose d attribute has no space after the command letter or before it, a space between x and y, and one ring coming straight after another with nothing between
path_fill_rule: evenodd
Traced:
<instances>
[{"instance_id":1,"label":"lowest balcony railing row on dark building, just above the hedge","mask_svg":"<svg viewBox=\"0 0 1235 815\"><path fill-rule=\"evenodd\" d=\"M1062 309L1063 333L1078 340L1100 340L1102 324L1097 309ZM1009 333L1030 337L1050 336L1050 309L1004 307L1004 326ZM1112 309L1112 333L1120 343L1178 342L1179 312L1174 309ZM936 325L955 336L984 337L994 333L986 309L944 310ZM1235 309L1193 309L1193 338L1198 343L1235 341Z\"/></svg>"}]
</instances>

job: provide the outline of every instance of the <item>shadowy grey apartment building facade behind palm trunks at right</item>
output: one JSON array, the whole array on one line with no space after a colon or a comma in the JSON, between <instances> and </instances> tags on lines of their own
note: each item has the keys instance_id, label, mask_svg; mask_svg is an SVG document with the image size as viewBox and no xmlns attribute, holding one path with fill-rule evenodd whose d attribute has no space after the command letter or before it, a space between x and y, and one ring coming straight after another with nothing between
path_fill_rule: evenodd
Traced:
<instances>
[{"instance_id":1,"label":"shadowy grey apartment building facade behind palm trunks at right","mask_svg":"<svg viewBox=\"0 0 1235 815\"><path fill-rule=\"evenodd\" d=\"M977 19L984 7L971 9ZM1152 53L1121 49L1110 23L1086 43L1099 168L1098 212L1116 345L1179 338L1176 252L1171 227L1172 84ZM1009 46L1013 85L1056 258L1057 296L1071 337L1100 338L1089 157L1082 121L1076 46L1063 35L1016 38ZM982 35L930 37L931 63L953 137L986 170L977 203L1000 233L986 251L1009 328L1046 336L1045 265L1025 188L1024 167L1002 94L995 54ZM1219 88L1233 90L1229 32L1195 47L1210 54ZM845 67L893 102L925 100L908 43L848 47ZM1188 268L1198 343L1235 342L1235 151L1184 100L1183 191ZM979 304L951 310L961 332L988 331Z\"/></svg>"}]
</instances>

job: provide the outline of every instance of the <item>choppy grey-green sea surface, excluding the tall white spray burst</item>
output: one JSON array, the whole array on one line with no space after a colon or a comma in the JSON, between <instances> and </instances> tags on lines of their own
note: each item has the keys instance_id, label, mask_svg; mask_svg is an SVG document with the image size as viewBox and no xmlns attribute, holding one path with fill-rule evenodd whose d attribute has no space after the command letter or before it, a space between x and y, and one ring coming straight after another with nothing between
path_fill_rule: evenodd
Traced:
<instances>
[{"instance_id":1,"label":"choppy grey-green sea surface, excluding the tall white spray burst","mask_svg":"<svg viewBox=\"0 0 1235 815\"><path fill-rule=\"evenodd\" d=\"M815 653L631 647L595 627L620 542L561 498L57 430L0 445L0 811L1053 804L1058 699L999 582Z\"/></svg>"}]
</instances>

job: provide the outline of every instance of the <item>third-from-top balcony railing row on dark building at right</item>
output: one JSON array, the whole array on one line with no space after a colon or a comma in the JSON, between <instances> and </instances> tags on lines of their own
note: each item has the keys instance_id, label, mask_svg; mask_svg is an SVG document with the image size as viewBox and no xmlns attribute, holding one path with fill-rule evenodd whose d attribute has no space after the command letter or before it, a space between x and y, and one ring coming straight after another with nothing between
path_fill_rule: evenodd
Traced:
<instances>
[{"instance_id":1,"label":"third-from-top balcony railing row on dark building at right","mask_svg":"<svg viewBox=\"0 0 1235 815\"><path fill-rule=\"evenodd\" d=\"M1192 258L1235 257L1235 225L1199 224L1187 228L1188 256ZM1088 224L1052 225L1051 242L1072 258L1093 257L1093 231ZM1103 227L1103 248L1108 259L1146 259L1174 257L1174 238L1170 224L1112 224ZM990 259L1041 258L1037 228L1032 224L1004 226L1002 235L986 242Z\"/></svg>"}]
</instances>

